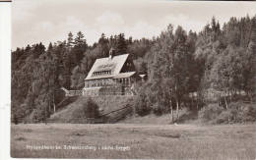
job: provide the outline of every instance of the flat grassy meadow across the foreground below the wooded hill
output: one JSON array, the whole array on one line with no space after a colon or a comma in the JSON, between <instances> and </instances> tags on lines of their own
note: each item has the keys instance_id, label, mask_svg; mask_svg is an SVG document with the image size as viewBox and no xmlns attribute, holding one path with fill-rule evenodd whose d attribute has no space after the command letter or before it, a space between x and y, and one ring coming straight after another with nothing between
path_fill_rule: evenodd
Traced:
<instances>
[{"instance_id":1,"label":"flat grassy meadow across the foreground below the wooded hill","mask_svg":"<svg viewBox=\"0 0 256 160\"><path fill-rule=\"evenodd\" d=\"M35 148L41 145L46 147ZM11 156L16 158L255 159L256 124L12 125Z\"/></svg>"}]
</instances>

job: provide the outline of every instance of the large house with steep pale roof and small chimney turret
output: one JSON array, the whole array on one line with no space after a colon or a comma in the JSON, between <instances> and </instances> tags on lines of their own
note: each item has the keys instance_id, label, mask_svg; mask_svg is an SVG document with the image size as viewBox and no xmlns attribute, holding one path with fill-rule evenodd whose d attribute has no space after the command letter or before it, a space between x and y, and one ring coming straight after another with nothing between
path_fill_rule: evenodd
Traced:
<instances>
[{"instance_id":1,"label":"large house with steep pale roof and small chimney turret","mask_svg":"<svg viewBox=\"0 0 256 160\"><path fill-rule=\"evenodd\" d=\"M127 95L133 94L133 83L138 79L129 54L114 55L96 59L85 79L83 95Z\"/></svg>"}]
</instances>

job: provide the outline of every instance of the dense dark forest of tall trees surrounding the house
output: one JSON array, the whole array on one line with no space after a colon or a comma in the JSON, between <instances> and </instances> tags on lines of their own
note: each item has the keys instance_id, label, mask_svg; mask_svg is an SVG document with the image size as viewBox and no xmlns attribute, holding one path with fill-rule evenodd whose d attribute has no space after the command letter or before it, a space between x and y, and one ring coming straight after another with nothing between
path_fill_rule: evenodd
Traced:
<instances>
[{"instance_id":1,"label":"dense dark forest of tall trees surrounding the house","mask_svg":"<svg viewBox=\"0 0 256 160\"><path fill-rule=\"evenodd\" d=\"M82 89L97 58L111 47L129 53L138 82L136 114L158 116L187 108L219 123L256 121L256 16L230 18L223 27L214 17L200 32L172 25L153 38L101 34L93 45L82 31L48 46L35 43L12 51L12 121L41 122L65 97L60 89ZM175 110L175 118L173 111ZM220 117L221 116L221 117ZM217 122L218 123L218 122Z\"/></svg>"}]
</instances>

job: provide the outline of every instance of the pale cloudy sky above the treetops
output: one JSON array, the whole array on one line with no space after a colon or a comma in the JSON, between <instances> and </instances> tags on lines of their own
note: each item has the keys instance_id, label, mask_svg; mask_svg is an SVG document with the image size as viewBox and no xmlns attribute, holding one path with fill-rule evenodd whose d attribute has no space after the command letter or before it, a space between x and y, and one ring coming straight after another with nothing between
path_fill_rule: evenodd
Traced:
<instances>
[{"instance_id":1,"label":"pale cloudy sky above the treetops","mask_svg":"<svg viewBox=\"0 0 256 160\"><path fill-rule=\"evenodd\" d=\"M65 40L82 31L92 45L101 33L152 38L168 24L200 31L215 17L221 25L230 17L256 15L255 2L166 0L14 0L12 49L28 44Z\"/></svg>"}]
</instances>

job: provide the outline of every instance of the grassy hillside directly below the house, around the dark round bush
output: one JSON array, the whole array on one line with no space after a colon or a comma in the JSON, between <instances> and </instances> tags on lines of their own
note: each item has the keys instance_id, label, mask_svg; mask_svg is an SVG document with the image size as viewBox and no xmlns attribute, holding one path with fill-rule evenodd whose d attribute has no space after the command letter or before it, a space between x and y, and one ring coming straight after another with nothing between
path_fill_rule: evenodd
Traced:
<instances>
[{"instance_id":1,"label":"grassy hillside directly below the house, around the dark round bush","mask_svg":"<svg viewBox=\"0 0 256 160\"><path fill-rule=\"evenodd\" d=\"M129 102L133 99L132 96L116 96L116 95L104 95L92 97L92 99L96 102L96 105L99 108L101 115L106 115L108 122L114 123L119 119L125 118L127 115L132 113L132 107L127 107ZM87 100L87 97L79 97L73 103L70 103L62 110L57 111L49 118L50 122L55 123L81 123L81 118L76 116L76 113L83 108L84 102ZM126 109L108 114L112 111L116 111L127 107Z\"/></svg>"}]
</instances>

